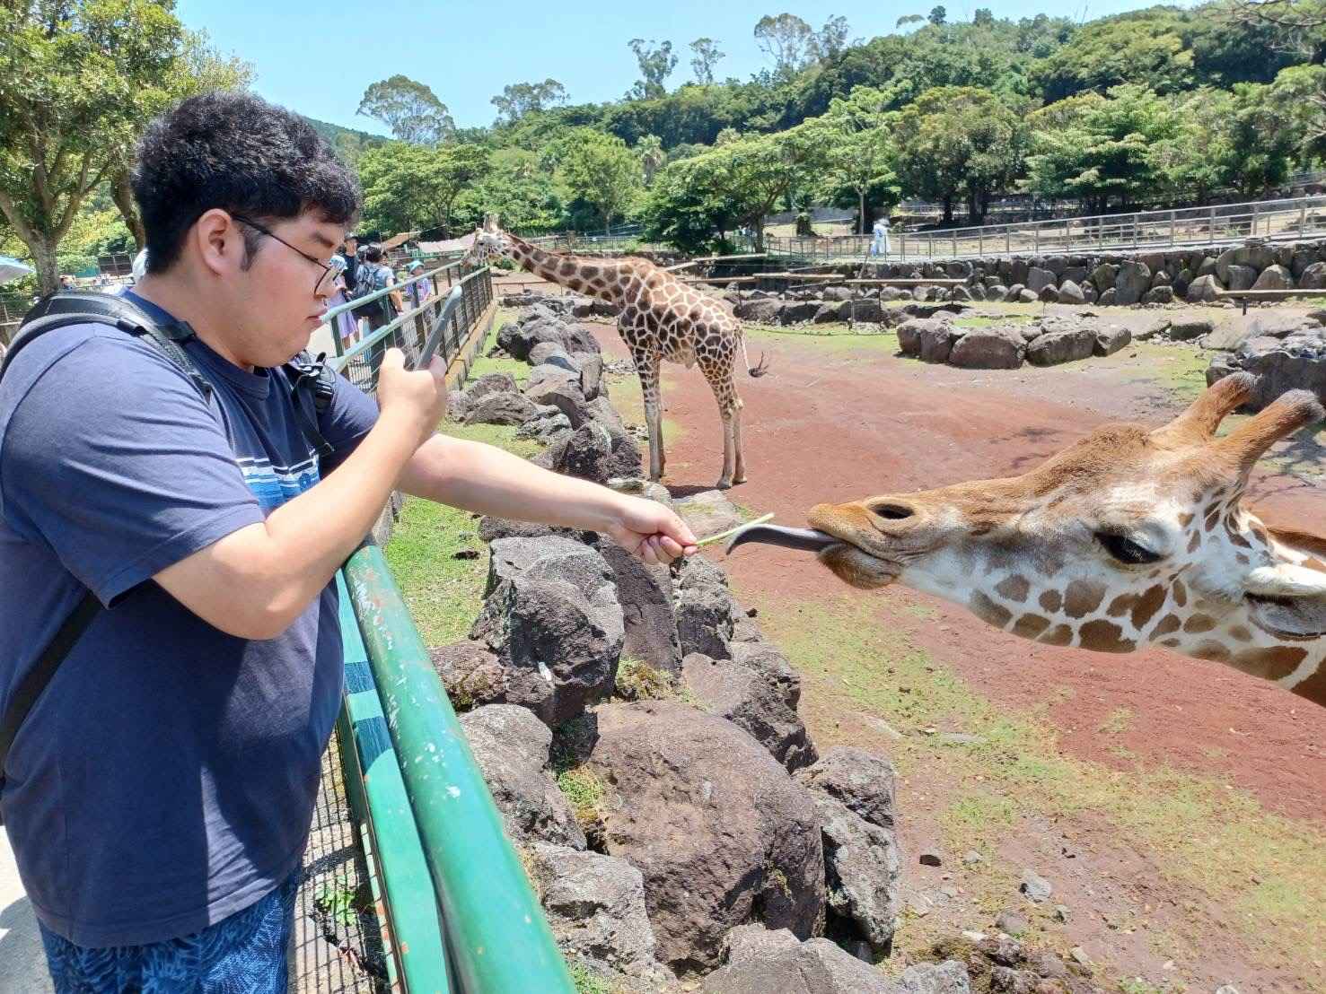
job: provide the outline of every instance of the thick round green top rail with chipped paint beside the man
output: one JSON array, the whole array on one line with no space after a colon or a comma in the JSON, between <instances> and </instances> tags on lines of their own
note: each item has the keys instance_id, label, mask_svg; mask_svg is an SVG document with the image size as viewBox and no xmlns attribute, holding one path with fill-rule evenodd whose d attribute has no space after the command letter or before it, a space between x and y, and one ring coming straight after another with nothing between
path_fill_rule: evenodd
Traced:
<instances>
[{"instance_id":1,"label":"thick round green top rail with chipped paint beside the man","mask_svg":"<svg viewBox=\"0 0 1326 994\"><path fill-rule=\"evenodd\" d=\"M467 994L574 994L382 550L366 543L346 561L343 573L442 903L460 989Z\"/></svg>"}]
</instances>

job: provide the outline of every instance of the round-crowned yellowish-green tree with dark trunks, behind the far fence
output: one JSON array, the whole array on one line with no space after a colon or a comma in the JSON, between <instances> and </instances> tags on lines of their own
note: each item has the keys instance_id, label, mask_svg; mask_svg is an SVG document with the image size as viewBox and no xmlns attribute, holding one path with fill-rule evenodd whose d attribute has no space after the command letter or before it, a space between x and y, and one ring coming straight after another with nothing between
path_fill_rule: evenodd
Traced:
<instances>
[{"instance_id":1,"label":"round-crowned yellowish-green tree with dark trunks, behind the far fence","mask_svg":"<svg viewBox=\"0 0 1326 994\"><path fill-rule=\"evenodd\" d=\"M1017 117L976 86L927 90L894 115L892 140L903 193L939 200L945 224L959 196L980 224L989 195L1013 182L1024 151Z\"/></svg>"}]
</instances>

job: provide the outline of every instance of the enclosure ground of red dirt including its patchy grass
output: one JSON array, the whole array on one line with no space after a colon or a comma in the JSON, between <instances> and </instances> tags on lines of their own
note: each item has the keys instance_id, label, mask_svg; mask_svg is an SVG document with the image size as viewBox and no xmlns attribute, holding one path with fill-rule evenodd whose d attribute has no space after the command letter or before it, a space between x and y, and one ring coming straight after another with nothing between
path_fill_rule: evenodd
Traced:
<instances>
[{"instance_id":1,"label":"enclosure ground of red dirt including its patchy grass","mask_svg":"<svg viewBox=\"0 0 1326 994\"><path fill-rule=\"evenodd\" d=\"M626 357L611 325L597 331ZM900 358L887 334L748 337L772 372L739 384L751 478L731 497L788 525L822 501L1020 473L1105 421L1160 424L1209 358L1136 343L968 371ZM643 420L634 379L613 396ZM708 489L721 464L712 395L697 371L666 366L663 398L664 482ZM1264 463L1252 497L1268 518L1321 527L1322 443ZM821 747L876 747L899 766L899 964L935 936L989 932L1009 908L1128 994L1326 990L1326 709L1163 651L1038 647L922 594L849 591L805 554L751 547L724 565L804 673ZM943 865L919 865L936 846ZM964 847L983 859L964 861ZM1026 868L1053 881L1049 903L1020 899Z\"/></svg>"}]
</instances>

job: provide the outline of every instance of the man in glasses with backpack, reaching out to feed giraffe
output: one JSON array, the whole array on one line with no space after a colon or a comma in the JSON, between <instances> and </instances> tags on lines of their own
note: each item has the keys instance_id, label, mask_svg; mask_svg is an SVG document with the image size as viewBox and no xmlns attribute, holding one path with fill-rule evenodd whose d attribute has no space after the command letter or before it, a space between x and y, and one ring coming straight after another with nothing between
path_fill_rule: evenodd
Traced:
<instances>
[{"instance_id":1,"label":"man in glasses with backpack, reaching out to feed giraffe","mask_svg":"<svg viewBox=\"0 0 1326 994\"><path fill-rule=\"evenodd\" d=\"M334 574L389 493L599 530L647 563L695 538L438 435L440 363L387 351L374 402L297 358L358 213L302 118L190 98L147 129L133 188L143 278L49 298L0 368L0 819L60 994L284 994L342 694Z\"/></svg>"}]
</instances>

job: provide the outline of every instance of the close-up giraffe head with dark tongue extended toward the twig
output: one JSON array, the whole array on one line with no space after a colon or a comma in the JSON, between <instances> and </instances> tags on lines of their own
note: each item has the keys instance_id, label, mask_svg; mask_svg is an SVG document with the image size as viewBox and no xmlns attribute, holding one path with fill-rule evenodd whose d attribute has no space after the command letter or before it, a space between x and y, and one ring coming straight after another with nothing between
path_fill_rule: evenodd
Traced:
<instances>
[{"instance_id":1,"label":"close-up giraffe head with dark tongue extended toward the twig","mask_svg":"<svg viewBox=\"0 0 1326 994\"><path fill-rule=\"evenodd\" d=\"M854 587L902 583L1025 639L1155 643L1326 704L1326 537L1242 504L1257 460L1323 411L1293 391L1217 436L1254 386L1228 376L1163 427L1098 428L1024 476L822 504L810 529L757 526L732 547L814 550Z\"/></svg>"}]
</instances>

